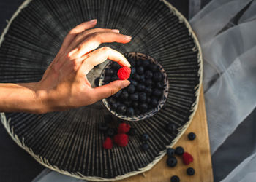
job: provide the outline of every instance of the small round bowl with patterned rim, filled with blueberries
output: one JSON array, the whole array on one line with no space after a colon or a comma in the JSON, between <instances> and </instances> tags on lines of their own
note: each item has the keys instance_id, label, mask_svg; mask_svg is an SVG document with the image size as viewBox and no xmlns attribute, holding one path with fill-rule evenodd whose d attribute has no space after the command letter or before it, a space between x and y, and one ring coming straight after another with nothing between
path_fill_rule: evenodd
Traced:
<instances>
[{"instance_id":1,"label":"small round bowl with patterned rim, filled with blueberries","mask_svg":"<svg viewBox=\"0 0 256 182\"><path fill-rule=\"evenodd\" d=\"M139 121L146 119L164 106L167 100L169 83L164 68L148 55L140 52L125 53L131 64L128 87L115 95L103 99L108 110L120 119ZM99 77L99 85L118 79L118 63L110 61Z\"/></svg>"}]
</instances>

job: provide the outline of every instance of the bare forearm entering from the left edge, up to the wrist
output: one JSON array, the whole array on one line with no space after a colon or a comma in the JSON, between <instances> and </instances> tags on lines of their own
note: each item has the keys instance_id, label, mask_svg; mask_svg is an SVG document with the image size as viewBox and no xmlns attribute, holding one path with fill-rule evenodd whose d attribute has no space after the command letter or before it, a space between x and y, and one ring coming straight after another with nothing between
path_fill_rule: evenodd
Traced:
<instances>
[{"instance_id":1,"label":"bare forearm entering from the left edge, up to the wrist","mask_svg":"<svg viewBox=\"0 0 256 182\"><path fill-rule=\"evenodd\" d=\"M42 113L41 100L34 91L36 85L0 84L0 111Z\"/></svg>"}]
</instances>

